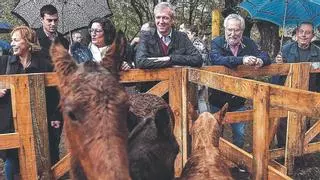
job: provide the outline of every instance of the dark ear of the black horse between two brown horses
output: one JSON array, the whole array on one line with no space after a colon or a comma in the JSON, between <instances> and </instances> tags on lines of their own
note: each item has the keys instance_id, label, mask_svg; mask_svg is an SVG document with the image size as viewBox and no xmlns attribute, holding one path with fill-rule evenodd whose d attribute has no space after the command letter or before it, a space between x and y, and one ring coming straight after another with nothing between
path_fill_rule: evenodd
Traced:
<instances>
[{"instance_id":1,"label":"dark ear of the black horse between two brown horses","mask_svg":"<svg viewBox=\"0 0 320 180\"><path fill-rule=\"evenodd\" d=\"M154 122L156 124L158 135L168 136L171 133L171 116L167 107L163 107L156 112Z\"/></svg>"}]
</instances>

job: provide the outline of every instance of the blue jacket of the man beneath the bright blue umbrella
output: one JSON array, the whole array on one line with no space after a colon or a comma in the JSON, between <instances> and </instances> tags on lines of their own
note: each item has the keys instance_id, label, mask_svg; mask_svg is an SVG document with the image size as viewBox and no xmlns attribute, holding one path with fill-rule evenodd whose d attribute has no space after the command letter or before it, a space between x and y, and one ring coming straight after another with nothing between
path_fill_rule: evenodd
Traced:
<instances>
[{"instance_id":1,"label":"blue jacket of the man beneath the bright blue umbrella","mask_svg":"<svg viewBox=\"0 0 320 180\"><path fill-rule=\"evenodd\" d=\"M320 62L320 48L311 43L309 50L310 54L307 59L301 59L299 55L299 47L297 42L290 42L283 46L282 57L286 63L300 63L300 62ZM287 76L274 76L271 83L284 85ZM320 74L310 74L309 90L320 92Z\"/></svg>"}]
</instances>

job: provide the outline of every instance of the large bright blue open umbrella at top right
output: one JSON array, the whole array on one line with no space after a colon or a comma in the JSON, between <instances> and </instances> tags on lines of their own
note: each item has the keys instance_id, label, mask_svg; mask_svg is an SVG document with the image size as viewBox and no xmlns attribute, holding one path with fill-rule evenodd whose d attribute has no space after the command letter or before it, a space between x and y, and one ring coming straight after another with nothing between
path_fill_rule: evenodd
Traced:
<instances>
[{"instance_id":1,"label":"large bright blue open umbrella at top right","mask_svg":"<svg viewBox=\"0 0 320 180\"><path fill-rule=\"evenodd\" d=\"M269 21L283 28L301 22L320 25L320 0L244 0L239 5L252 19ZM281 36L281 45L283 34Z\"/></svg>"}]
</instances>

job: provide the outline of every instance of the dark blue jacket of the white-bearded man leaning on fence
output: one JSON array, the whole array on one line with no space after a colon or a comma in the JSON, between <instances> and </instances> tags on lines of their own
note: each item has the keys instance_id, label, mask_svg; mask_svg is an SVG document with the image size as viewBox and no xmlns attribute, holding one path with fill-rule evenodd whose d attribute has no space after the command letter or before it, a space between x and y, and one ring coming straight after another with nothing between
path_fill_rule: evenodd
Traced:
<instances>
[{"instance_id":1,"label":"dark blue jacket of the white-bearded man leaning on fence","mask_svg":"<svg viewBox=\"0 0 320 180\"><path fill-rule=\"evenodd\" d=\"M243 37L242 44L238 50L238 56L234 56L230 50L225 37L219 36L211 42L210 65L223 65L228 68L236 68L242 65L244 56L256 56L262 59L263 65L271 64L269 55L258 49L253 40ZM221 108L225 103L229 103L229 110L235 111L242 107L246 99L228 94L219 90L210 89L209 102L211 105Z\"/></svg>"}]
</instances>

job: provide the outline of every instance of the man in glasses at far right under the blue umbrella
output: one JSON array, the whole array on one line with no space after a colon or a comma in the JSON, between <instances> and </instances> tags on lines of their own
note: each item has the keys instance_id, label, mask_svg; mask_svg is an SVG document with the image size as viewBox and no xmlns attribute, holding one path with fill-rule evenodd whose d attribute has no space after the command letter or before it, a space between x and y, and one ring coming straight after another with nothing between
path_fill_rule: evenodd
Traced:
<instances>
[{"instance_id":1,"label":"man in glasses at far right under the blue umbrella","mask_svg":"<svg viewBox=\"0 0 320 180\"><path fill-rule=\"evenodd\" d=\"M296 29L297 41L290 42L283 46L281 54L275 58L276 63L300 63L312 62L315 68L319 68L320 48L314 45L311 40L314 37L313 24L311 22L302 22ZM272 77L272 83L284 85L286 76ZM320 74L310 74L309 90L320 92ZM310 128L310 121L305 121L307 128ZM284 147L286 143L286 118L280 120L277 132L278 147Z\"/></svg>"}]
</instances>

